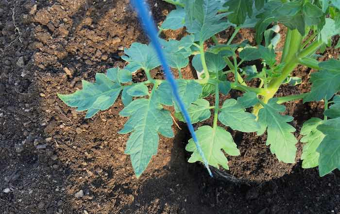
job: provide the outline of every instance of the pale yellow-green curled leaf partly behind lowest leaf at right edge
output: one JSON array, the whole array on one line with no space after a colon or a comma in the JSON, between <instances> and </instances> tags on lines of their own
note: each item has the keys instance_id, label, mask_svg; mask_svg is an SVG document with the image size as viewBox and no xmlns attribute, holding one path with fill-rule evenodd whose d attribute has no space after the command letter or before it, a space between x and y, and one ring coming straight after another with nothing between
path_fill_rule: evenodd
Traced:
<instances>
[{"instance_id":1,"label":"pale yellow-green curled leaf partly behind lowest leaf at right edge","mask_svg":"<svg viewBox=\"0 0 340 214\"><path fill-rule=\"evenodd\" d=\"M303 160L302 168L313 168L319 165L320 154L316 149L324 138L323 132L317 130L320 124L323 124L322 119L312 117L302 126L300 134L305 135L300 140L302 143L305 143L301 155L301 160Z\"/></svg>"}]
</instances>

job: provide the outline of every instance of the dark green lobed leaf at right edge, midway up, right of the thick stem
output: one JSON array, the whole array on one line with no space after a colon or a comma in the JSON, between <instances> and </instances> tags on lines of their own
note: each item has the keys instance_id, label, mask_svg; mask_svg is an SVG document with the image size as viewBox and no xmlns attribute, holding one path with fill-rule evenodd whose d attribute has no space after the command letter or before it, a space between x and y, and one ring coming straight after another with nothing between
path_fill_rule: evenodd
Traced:
<instances>
[{"instance_id":1,"label":"dark green lobed leaf at right edge, midway up, right of the thick stem","mask_svg":"<svg viewBox=\"0 0 340 214\"><path fill-rule=\"evenodd\" d=\"M304 98L306 101L319 101L321 99L331 99L340 90L340 61L331 59L319 66L321 71L311 74L311 92Z\"/></svg>"}]
</instances>

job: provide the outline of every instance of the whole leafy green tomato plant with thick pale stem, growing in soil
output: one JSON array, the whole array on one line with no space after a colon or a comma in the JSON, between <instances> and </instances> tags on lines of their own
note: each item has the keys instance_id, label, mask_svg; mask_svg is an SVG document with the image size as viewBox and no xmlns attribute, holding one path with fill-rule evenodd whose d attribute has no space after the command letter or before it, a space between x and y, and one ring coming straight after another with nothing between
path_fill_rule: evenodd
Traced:
<instances>
[{"instance_id":1,"label":"whole leafy green tomato plant with thick pale stem, growing in soil","mask_svg":"<svg viewBox=\"0 0 340 214\"><path fill-rule=\"evenodd\" d=\"M210 118L213 111L213 123L196 131L209 165L229 169L225 154L239 155L231 134L218 126L218 120L239 132L261 135L267 131L266 144L277 159L295 163L298 140L293 134L295 128L289 124L293 117L281 114L285 111L282 103L303 99L304 102L323 100L325 111L323 119L310 118L303 125L302 167L319 166L320 176L340 169L340 96L335 95L340 90L340 61L330 59L319 63L315 54L318 50L323 52L340 33L339 0L166 1L175 4L176 9L159 26L160 31L183 27L187 31L180 40L160 39L170 66L179 73L176 81L180 97L193 123ZM277 23L288 28L279 61L275 53L281 39ZM247 40L232 43L242 28L255 28L255 47ZM234 33L229 40L220 44L216 34L232 29ZM208 40L215 44L206 47ZM97 73L96 82L83 81L82 90L58 96L68 106L77 107L77 111L87 111L85 118L90 118L110 108L120 95L125 108L119 115L129 119L119 133L131 133L125 153L130 155L139 177L157 153L159 134L174 136L173 120L164 106L173 106L178 120L184 121L184 118L169 83L153 79L150 74L160 66L152 45L133 43L124 53L121 58L128 63L124 68ZM191 62L190 56L193 56ZM255 66L255 60L261 60L260 67ZM254 66L242 66L247 61ZM183 79L181 69L189 63L198 72L199 79ZM310 93L274 98L282 84L301 83L299 77L291 76L298 65L315 70L310 78ZM132 81L138 70L145 72L147 81ZM233 81L227 80L229 73L233 74ZM253 79L260 80L257 87L249 86ZM220 106L220 95L228 94L231 89L244 92L243 96L226 99ZM214 106L205 99L209 96L215 97ZM188 162L202 162L192 139L186 149L192 152Z\"/></svg>"}]
</instances>

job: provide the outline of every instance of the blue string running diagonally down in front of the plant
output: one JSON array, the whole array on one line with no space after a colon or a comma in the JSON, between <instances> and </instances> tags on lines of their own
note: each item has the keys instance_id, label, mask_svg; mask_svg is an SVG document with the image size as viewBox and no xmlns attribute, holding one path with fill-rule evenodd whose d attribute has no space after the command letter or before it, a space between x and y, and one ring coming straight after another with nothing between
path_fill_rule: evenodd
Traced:
<instances>
[{"instance_id":1,"label":"blue string running diagonally down in front of the plant","mask_svg":"<svg viewBox=\"0 0 340 214\"><path fill-rule=\"evenodd\" d=\"M192 139L194 140L194 142L196 144L196 148L197 148L198 152L200 153L200 155L202 156L204 165L207 168L209 175L211 177L213 177L213 175L210 171L208 162L206 161L206 159L204 157L204 153L202 151L202 148L198 143L198 139L197 139L196 133L194 131L194 127L191 124L190 116L187 113L187 110L184 106L184 103L182 102L181 98L179 97L177 83L175 82L175 79L172 76L172 73L170 71L170 67L167 63L164 52L163 52L161 45L159 43L158 35L157 35L158 33L157 33L157 31L154 27L155 24L153 22L153 19L151 18L151 16L148 13L146 3L144 3L144 0L132 0L131 2L136 7L136 10L137 10L138 15L139 15L139 19L143 24L143 28L144 28L145 32L149 35L151 42L153 44L153 47L156 50L156 53L158 55L158 58L163 65L163 69L165 71L166 79L170 83L170 86L171 86L171 89L172 89L172 94L174 95L176 102L178 103L179 108L180 108L181 112L183 113L185 120L187 121L187 127L188 127L189 132L192 136Z\"/></svg>"}]
</instances>

